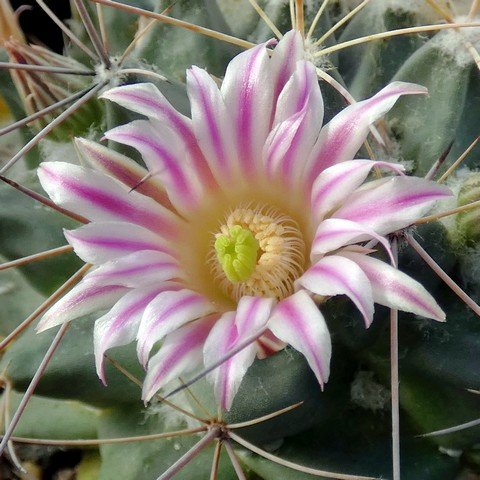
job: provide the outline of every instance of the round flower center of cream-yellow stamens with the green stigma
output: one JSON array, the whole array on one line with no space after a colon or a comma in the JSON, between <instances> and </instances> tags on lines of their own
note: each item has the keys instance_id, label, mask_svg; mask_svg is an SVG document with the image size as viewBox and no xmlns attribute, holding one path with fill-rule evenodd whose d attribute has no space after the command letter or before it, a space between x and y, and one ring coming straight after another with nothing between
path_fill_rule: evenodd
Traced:
<instances>
[{"instance_id":1,"label":"round flower center of cream-yellow stamens with the green stigma","mask_svg":"<svg viewBox=\"0 0 480 480\"><path fill-rule=\"evenodd\" d=\"M237 208L214 235L208 263L232 300L253 295L278 300L293 293L305 268L305 242L291 217L268 205Z\"/></svg>"}]
</instances>

